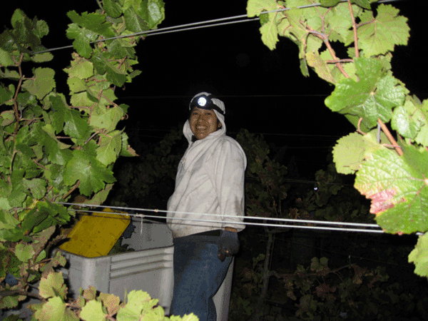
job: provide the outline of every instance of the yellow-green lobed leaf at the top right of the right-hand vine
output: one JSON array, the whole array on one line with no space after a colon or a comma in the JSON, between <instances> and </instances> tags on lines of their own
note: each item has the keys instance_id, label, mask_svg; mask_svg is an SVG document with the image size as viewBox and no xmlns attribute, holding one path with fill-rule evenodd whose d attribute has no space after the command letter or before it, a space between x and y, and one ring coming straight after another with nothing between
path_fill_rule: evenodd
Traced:
<instances>
[{"instance_id":1,"label":"yellow-green lobed leaf at the top right of the right-hand vine","mask_svg":"<svg viewBox=\"0 0 428 321\"><path fill-rule=\"evenodd\" d=\"M372 11L360 16L358 45L365 56L378 56L394 51L395 45L407 45L409 26L407 18L398 16L398 9L391 5L380 4L374 19Z\"/></svg>"}]
</instances>

